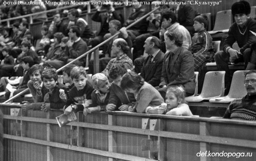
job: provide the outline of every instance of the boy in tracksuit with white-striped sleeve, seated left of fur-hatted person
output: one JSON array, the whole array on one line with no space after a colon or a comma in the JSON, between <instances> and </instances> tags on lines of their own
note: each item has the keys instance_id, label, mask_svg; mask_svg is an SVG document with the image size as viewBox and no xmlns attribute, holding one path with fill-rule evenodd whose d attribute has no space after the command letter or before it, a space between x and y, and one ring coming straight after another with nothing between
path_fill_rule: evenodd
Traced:
<instances>
[{"instance_id":1,"label":"boy in tracksuit with white-striped sleeve, seated left of fur-hatted person","mask_svg":"<svg viewBox=\"0 0 256 161\"><path fill-rule=\"evenodd\" d=\"M197 33L192 37L192 45L189 49L195 60L195 71L200 71L203 64L214 60L212 37L206 31L207 25L208 21L203 16L195 17L193 26Z\"/></svg>"}]
</instances>

